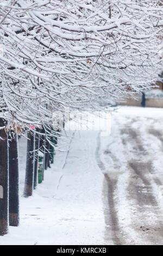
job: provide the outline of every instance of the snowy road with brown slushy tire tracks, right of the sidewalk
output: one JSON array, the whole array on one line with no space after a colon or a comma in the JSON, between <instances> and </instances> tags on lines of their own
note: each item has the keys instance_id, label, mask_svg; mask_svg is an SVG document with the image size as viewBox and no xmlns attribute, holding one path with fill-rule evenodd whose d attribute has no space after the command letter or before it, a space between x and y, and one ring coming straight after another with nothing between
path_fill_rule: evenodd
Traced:
<instances>
[{"instance_id":1,"label":"snowy road with brown slushy tire tracks, right of the sidewalk","mask_svg":"<svg viewBox=\"0 0 163 256\"><path fill-rule=\"evenodd\" d=\"M117 245L163 245L162 109L132 111L114 113L108 141L98 140L105 220Z\"/></svg>"}]
</instances>

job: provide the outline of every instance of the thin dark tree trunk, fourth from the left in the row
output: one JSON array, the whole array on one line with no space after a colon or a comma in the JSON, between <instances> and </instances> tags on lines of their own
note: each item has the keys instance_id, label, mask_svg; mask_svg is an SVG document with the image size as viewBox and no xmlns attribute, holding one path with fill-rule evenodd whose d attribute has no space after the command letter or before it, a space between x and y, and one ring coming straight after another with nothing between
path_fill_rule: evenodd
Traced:
<instances>
[{"instance_id":1,"label":"thin dark tree trunk, fourth from the left in the row","mask_svg":"<svg viewBox=\"0 0 163 256\"><path fill-rule=\"evenodd\" d=\"M38 130L37 130L38 131ZM39 161L39 147L40 136L35 133L35 163L34 163L34 190L38 184L38 161Z\"/></svg>"}]
</instances>

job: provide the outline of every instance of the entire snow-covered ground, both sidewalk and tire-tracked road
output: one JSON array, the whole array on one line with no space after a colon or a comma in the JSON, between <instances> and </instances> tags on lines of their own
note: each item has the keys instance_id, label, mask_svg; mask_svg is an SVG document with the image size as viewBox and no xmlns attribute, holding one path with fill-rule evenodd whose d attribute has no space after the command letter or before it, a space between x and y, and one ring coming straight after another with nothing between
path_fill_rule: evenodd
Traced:
<instances>
[{"instance_id":1,"label":"entire snow-covered ground, both sidewalk and tire-tracked road","mask_svg":"<svg viewBox=\"0 0 163 256\"><path fill-rule=\"evenodd\" d=\"M0 245L163 244L162 125L161 108L123 106L110 135L70 132L70 149L57 152L28 199L21 139L20 227Z\"/></svg>"}]
</instances>

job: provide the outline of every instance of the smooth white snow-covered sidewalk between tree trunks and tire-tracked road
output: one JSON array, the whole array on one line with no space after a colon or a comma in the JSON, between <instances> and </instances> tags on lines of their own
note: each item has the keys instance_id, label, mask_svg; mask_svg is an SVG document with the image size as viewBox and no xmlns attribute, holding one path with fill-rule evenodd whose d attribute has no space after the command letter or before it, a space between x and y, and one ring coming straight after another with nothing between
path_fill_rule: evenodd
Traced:
<instances>
[{"instance_id":1,"label":"smooth white snow-covered sidewalk between tree trunks and tire-tracked road","mask_svg":"<svg viewBox=\"0 0 163 256\"><path fill-rule=\"evenodd\" d=\"M20 227L10 227L0 245L104 244L103 174L95 159L97 134L76 132L68 155L57 153L52 168L45 171L45 181L28 199L22 197L26 140L21 139Z\"/></svg>"}]
</instances>

